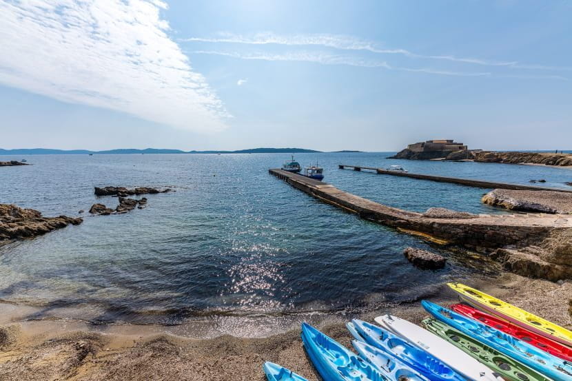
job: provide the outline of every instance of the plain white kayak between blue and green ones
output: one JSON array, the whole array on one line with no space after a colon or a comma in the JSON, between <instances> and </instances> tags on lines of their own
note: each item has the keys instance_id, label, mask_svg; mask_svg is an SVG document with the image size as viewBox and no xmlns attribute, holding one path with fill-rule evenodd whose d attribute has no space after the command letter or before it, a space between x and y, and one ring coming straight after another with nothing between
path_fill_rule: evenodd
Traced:
<instances>
[{"instance_id":1,"label":"plain white kayak between blue and green ones","mask_svg":"<svg viewBox=\"0 0 572 381\"><path fill-rule=\"evenodd\" d=\"M375 318L376 323L401 338L408 340L419 349L426 351L448 364L457 373L465 378L475 381L502 381L500 375L496 375L491 369L467 355L453 344L433 335L412 322L400 319L396 316L385 315Z\"/></svg>"}]
</instances>

